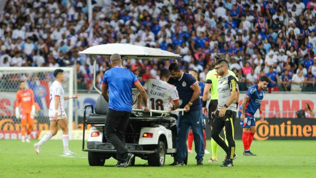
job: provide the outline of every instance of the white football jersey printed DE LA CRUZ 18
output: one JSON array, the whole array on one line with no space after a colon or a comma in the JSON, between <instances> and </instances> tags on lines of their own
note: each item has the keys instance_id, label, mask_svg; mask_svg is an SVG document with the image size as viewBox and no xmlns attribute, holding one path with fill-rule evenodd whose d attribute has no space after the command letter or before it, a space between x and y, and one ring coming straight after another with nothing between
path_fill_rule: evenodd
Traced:
<instances>
[{"instance_id":1,"label":"white football jersey printed DE LA CRUZ 18","mask_svg":"<svg viewBox=\"0 0 316 178\"><path fill-rule=\"evenodd\" d=\"M169 98L173 101L179 101L177 89L160 79L148 79L144 84L144 89L148 94L148 107L149 109L170 111L172 104Z\"/></svg>"}]
</instances>

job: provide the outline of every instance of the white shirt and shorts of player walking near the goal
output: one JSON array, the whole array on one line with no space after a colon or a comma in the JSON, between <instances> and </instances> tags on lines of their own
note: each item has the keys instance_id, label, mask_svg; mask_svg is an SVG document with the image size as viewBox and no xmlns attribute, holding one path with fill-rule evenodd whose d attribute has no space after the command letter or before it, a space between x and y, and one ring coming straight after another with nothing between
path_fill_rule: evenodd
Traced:
<instances>
[{"instance_id":1,"label":"white shirt and shorts of player walking near the goal","mask_svg":"<svg viewBox=\"0 0 316 178\"><path fill-rule=\"evenodd\" d=\"M49 104L49 117L54 117L55 115L55 96L59 96L58 105L58 116L65 114L64 111L64 89L58 81L54 81L49 88L49 99L51 103Z\"/></svg>"}]
</instances>

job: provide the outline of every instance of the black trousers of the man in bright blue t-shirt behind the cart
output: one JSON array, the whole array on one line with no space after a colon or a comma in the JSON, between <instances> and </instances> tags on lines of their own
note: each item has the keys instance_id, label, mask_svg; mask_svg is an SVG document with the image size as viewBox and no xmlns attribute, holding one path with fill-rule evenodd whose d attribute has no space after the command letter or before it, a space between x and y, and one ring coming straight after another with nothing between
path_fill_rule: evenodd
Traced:
<instances>
[{"instance_id":1,"label":"black trousers of the man in bright blue t-shirt behind the cart","mask_svg":"<svg viewBox=\"0 0 316 178\"><path fill-rule=\"evenodd\" d=\"M104 135L116 149L118 163L125 162L129 153L125 148L125 131L131 112L108 109L106 114Z\"/></svg>"}]
</instances>

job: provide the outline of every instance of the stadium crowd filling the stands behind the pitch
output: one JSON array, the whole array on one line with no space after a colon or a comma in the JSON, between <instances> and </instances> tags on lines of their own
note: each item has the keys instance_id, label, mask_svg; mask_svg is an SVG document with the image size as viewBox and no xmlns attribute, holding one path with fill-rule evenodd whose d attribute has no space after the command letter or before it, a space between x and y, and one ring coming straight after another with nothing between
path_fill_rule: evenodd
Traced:
<instances>
[{"instance_id":1,"label":"stadium crowd filling the stands behind the pitch","mask_svg":"<svg viewBox=\"0 0 316 178\"><path fill-rule=\"evenodd\" d=\"M262 75L270 79L269 92L316 90L316 0L92 2L89 26L86 0L7 1L0 15L0 66L76 65L78 89L90 90L93 59L77 52L125 43L180 54L181 70L199 71L202 82L220 52L240 90ZM111 63L107 57L97 61L100 85ZM172 62L128 59L124 66L144 83Z\"/></svg>"}]
</instances>

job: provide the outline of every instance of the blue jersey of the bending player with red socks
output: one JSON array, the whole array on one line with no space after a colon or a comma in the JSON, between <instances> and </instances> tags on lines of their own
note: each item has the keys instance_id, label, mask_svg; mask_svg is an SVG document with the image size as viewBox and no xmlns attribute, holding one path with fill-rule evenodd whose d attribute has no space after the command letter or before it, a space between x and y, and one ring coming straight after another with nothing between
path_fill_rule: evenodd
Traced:
<instances>
[{"instance_id":1,"label":"blue jersey of the bending player with red socks","mask_svg":"<svg viewBox=\"0 0 316 178\"><path fill-rule=\"evenodd\" d=\"M253 116L259 108L263 99L264 90L259 90L258 84L252 85L246 92L246 97L250 100L246 103L245 114ZM239 111L242 112L242 105L239 107Z\"/></svg>"}]
</instances>

